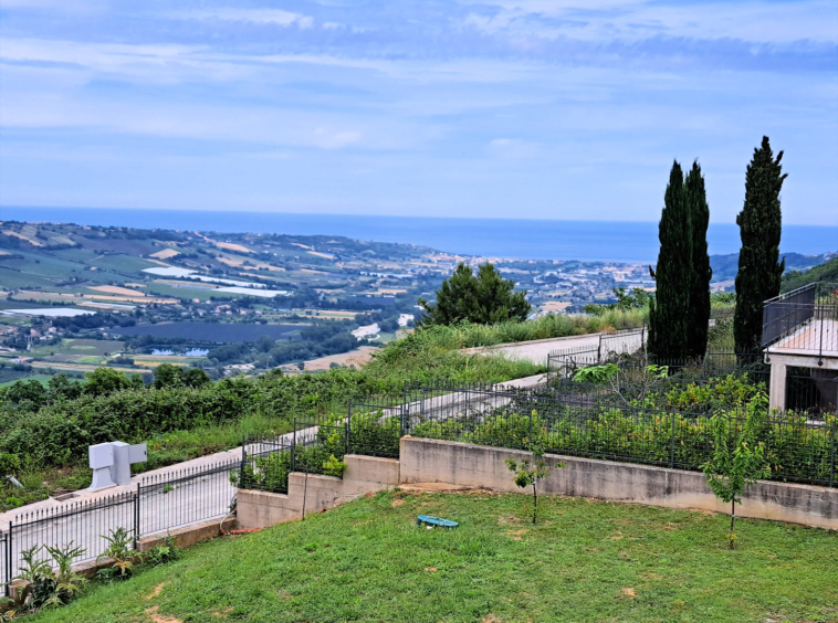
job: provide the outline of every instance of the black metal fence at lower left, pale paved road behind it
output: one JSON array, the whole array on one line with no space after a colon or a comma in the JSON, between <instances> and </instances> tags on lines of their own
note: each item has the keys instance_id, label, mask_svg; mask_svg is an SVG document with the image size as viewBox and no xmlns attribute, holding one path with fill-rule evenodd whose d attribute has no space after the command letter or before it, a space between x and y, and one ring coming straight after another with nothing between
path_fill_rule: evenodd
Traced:
<instances>
[{"instance_id":1,"label":"black metal fence at lower left, pale paved road behind it","mask_svg":"<svg viewBox=\"0 0 838 623\"><path fill-rule=\"evenodd\" d=\"M240 469L238 460L201 465L147 476L133 490L24 510L0 531L0 585L8 594L22 552L33 547L39 548L35 560L51 562L46 547L80 548L73 563L87 562L103 555L105 537L118 528L130 534L136 548L142 536L223 518L235 495L231 475Z\"/></svg>"}]
</instances>

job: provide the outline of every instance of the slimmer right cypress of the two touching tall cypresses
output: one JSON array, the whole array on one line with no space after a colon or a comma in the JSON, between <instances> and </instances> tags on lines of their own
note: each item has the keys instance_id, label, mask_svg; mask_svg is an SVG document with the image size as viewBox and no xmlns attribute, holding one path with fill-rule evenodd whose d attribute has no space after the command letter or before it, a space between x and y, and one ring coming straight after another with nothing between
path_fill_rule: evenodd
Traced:
<instances>
[{"instance_id":1,"label":"slimmer right cypress of the two touching tall cypresses","mask_svg":"<svg viewBox=\"0 0 838 623\"><path fill-rule=\"evenodd\" d=\"M690 331L687 356L704 357L708 350L708 327L710 326L710 279L713 268L708 255L708 224L710 208L704 192L704 177L698 160L684 181L687 202L692 225L692 283L690 285Z\"/></svg>"}]
</instances>

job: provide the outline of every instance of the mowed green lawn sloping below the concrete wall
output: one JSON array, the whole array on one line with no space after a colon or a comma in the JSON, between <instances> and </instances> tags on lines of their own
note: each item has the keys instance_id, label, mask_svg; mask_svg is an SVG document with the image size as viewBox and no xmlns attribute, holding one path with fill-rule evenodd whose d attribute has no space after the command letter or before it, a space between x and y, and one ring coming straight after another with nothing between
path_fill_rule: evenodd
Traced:
<instances>
[{"instance_id":1,"label":"mowed green lawn sloping below the concrete wall","mask_svg":"<svg viewBox=\"0 0 838 623\"><path fill-rule=\"evenodd\" d=\"M32 621L838 621L835 532L524 495L380 493L167 567ZM454 530L417 527L418 514Z\"/></svg>"}]
</instances>

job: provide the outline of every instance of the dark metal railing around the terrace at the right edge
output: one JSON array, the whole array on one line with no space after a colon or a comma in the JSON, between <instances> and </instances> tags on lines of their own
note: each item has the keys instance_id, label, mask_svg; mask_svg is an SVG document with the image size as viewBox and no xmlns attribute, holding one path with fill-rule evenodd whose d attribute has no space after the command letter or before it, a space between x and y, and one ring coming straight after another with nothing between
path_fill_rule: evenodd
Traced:
<instances>
[{"instance_id":1,"label":"dark metal railing around the terrace at the right edge","mask_svg":"<svg viewBox=\"0 0 838 623\"><path fill-rule=\"evenodd\" d=\"M819 362L838 357L838 284L814 283L766 300L762 346Z\"/></svg>"}]
</instances>

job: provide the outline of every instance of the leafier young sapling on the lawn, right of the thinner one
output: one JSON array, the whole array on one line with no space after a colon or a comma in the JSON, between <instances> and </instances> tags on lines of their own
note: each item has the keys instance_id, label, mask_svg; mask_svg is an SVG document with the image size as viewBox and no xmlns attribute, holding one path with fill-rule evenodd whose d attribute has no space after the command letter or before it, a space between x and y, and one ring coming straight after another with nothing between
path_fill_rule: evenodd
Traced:
<instances>
[{"instance_id":1,"label":"leafier young sapling on the lawn, right of the thinner one","mask_svg":"<svg viewBox=\"0 0 838 623\"><path fill-rule=\"evenodd\" d=\"M710 423L713 432L713 456L701 466L708 485L722 501L731 504L730 547L736 546L733 522L736 519L736 504L742 504L742 494L760 478L771 476L765 447L755 441L754 413L741 432L735 430L727 415L713 415Z\"/></svg>"}]
</instances>

